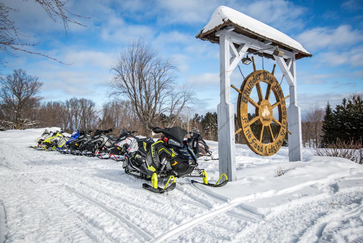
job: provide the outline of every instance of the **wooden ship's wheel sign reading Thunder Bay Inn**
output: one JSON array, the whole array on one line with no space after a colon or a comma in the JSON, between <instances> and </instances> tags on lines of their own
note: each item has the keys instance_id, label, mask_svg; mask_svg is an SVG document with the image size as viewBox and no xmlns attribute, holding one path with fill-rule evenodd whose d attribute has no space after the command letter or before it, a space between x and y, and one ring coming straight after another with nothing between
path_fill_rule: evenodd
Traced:
<instances>
[{"instance_id":1,"label":"wooden ship's wheel sign reading Thunder Bay Inn","mask_svg":"<svg viewBox=\"0 0 363 243\"><path fill-rule=\"evenodd\" d=\"M276 64L274 64L272 73L270 73L266 70L256 70L253 57L252 62L254 71L245 78L241 85L241 89L237 89L235 86L231 85L231 87L239 93L237 101L237 117L240 129L238 129L235 134L242 132L243 138L247 141L248 147L256 154L270 156L276 154L276 152L280 149L284 142L286 131L289 132L287 130L285 104L285 100L289 97L289 95L284 97L280 84L273 76ZM260 82L265 82L267 84L265 96L262 93ZM257 89L258 102L255 102L252 98L250 98L250 94L254 87ZM276 98L276 102L274 104L271 104L269 101L271 91ZM248 118L248 104L251 104L256 108L256 116L250 120ZM275 107L278 108L278 120L273 116L273 109ZM257 137L253 134L250 127L255 122L260 124ZM276 135L272 132L272 122L278 127ZM268 133L269 143L262 142L265 127Z\"/></svg>"}]
</instances>

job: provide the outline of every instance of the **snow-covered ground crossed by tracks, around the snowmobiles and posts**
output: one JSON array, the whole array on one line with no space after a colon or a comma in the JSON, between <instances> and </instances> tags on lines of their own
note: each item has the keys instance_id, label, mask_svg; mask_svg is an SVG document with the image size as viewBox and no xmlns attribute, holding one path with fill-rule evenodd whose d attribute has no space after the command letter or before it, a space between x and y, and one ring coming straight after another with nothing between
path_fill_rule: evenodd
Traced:
<instances>
[{"instance_id":1,"label":"snow-covered ground crossed by tracks, around the snowmobiles and posts","mask_svg":"<svg viewBox=\"0 0 363 243\"><path fill-rule=\"evenodd\" d=\"M304 149L292 163L285 147L260 157L237 145L236 182L177 179L155 194L121 163L27 147L43 130L0 132L0 243L363 242L363 166L347 159ZM200 167L218 179L218 161Z\"/></svg>"}]
</instances>

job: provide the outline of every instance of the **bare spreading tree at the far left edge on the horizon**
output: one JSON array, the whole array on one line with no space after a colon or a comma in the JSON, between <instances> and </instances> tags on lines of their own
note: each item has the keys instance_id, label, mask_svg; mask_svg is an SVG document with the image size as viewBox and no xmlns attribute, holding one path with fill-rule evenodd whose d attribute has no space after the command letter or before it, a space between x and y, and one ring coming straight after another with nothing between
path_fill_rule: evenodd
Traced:
<instances>
[{"instance_id":1,"label":"bare spreading tree at the far left edge on the horizon","mask_svg":"<svg viewBox=\"0 0 363 243\"><path fill-rule=\"evenodd\" d=\"M13 74L0 77L3 127L25 129L34 125L35 121L29 119L29 111L39 105L41 97L37 94L42 85L39 77L27 75L23 69L15 69Z\"/></svg>"}]
</instances>

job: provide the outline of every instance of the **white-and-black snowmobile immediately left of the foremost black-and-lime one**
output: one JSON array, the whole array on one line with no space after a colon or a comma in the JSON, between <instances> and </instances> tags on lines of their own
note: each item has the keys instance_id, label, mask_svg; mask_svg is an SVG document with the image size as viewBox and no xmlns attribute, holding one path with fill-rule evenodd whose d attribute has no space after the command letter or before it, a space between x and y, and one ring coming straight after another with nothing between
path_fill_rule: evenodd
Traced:
<instances>
[{"instance_id":1,"label":"white-and-black snowmobile immediately left of the foremost black-and-lime one","mask_svg":"<svg viewBox=\"0 0 363 243\"><path fill-rule=\"evenodd\" d=\"M151 138L135 137L131 135L133 133L137 133L137 131L127 131L126 128L121 130L119 138L107 149L110 159L122 161L125 158L125 153L134 153L139 149L138 143L140 141L153 141Z\"/></svg>"}]
</instances>

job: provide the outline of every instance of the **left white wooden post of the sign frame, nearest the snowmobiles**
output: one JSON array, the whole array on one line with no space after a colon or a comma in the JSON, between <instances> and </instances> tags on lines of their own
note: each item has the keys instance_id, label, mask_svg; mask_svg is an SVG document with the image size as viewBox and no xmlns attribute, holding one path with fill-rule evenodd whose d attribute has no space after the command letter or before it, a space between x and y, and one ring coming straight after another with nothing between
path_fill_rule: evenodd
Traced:
<instances>
[{"instance_id":1,"label":"left white wooden post of the sign frame, nearest the snowmobiles","mask_svg":"<svg viewBox=\"0 0 363 243\"><path fill-rule=\"evenodd\" d=\"M231 39L221 32L219 35L220 59L220 103L217 106L218 114L218 153L219 174L228 176L229 181L236 181L236 154L234 151L234 109L231 103L229 76L229 48Z\"/></svg>"}]
</instances>

